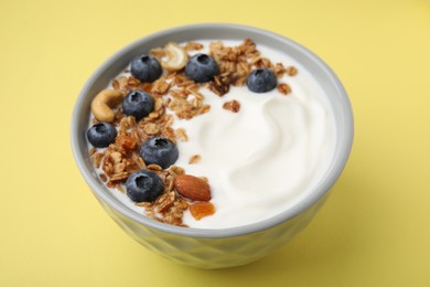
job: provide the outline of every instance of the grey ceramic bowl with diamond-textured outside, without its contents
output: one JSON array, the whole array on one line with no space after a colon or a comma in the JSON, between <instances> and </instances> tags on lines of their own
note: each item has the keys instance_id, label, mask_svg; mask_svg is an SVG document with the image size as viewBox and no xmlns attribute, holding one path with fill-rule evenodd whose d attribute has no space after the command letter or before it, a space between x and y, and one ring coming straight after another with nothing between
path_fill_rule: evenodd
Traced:
<instances>
[{"instance_id":1,"label":"grey ceramic bowl with diamond-textured outside, without its contents","mask_svg":"<svg viewBox=\"0 0 430 287\"><path fill-rule=\"evenodd\" d=\"M222 230L179 227L153 221L117 200L98 178L88 155L86 130L90 103L135 56L168 42L192 40L244 40L284 51L316 78L332 106L336 125L336 150L329 170L304 200L281 214L248 225ZM77 167L111 219L147 248L174 262L200 268L224 268L257 261L298 234L315 215L343 171L353 142L353 113L341 82L332 70L302 45L257 28L207 23L179 26L144 36L107 60L87 81L74 107L71 127L72 149Z\"/></svg>"}]
</instances>

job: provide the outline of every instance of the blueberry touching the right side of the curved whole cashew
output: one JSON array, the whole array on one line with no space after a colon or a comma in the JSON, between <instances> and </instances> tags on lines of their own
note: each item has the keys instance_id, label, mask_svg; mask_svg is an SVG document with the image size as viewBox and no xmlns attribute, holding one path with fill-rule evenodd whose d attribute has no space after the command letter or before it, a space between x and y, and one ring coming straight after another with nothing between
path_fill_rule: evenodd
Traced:
<instances>
[{"instance_id":1,"label":"blueberry touching the right side of the curved whole cashew","mask_svg":"<svg viewBox=\"0 0 430 287\"><path fill-rule=\"evenodd\" d=\"M135 116L137 120L148 116L153 110L153 106L152 97L140 89L131 91L122 99L123 114Z\"/></svg>"}]
</instances>

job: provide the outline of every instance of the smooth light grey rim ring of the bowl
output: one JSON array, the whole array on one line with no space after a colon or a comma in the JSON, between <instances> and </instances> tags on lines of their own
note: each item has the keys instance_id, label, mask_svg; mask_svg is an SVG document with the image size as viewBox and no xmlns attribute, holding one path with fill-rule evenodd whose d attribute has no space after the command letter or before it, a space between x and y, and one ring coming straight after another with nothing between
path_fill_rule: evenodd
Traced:
<instances>
[{"instance_id":1,"label":"smooth light grey rim ring of the bowl","mask_svg":"<svg viewBox=\"0 0 430 287\"><path fill-rule=\"evenodd\" d=\"M79 153L79 144L78 144L78 135L79 135L79 125L78 125L78 114L79 109L84 104L85 97L88 94L88 91L92 86L92 84L99 77L99 75L107 70L114 61L116 61L120 55L125 54L127 51L132 50L137 45L142 44L143 42L150 42L153 41L157 38L172 34L176 32L183 32L183 31L197 31L197 30L214 30L214 29L233 29L237 31L249 31L252 33L258 34L265 34L265 36L275 38L278 41L286 42L289 45L293 46L297 50L300 50L301 53L305 54L309 59L312 59L315 64L319 65L321 70L324 71L324 73L332 79L332 84L334 85L335 89L338 93L338 96L342 100L341 106L344 111L345 117L345 129L344 132L344 142L341 146L342 150L337 150L337 159L336 161L333 161L333 166L331 170L325 176L324 181L315 187L315 190L313 192L310 192L309 195L301 201L299 204L293 205L292 208L283 211L282 213L267 219L265 221L250 223L247 225L236 226L236 227L227 227L227 228L195 228L195 227L179 227L173 226L169 224L164 224L161 222L153 221L149 217L147 217L143 214L138 214L137 212L126 208L123 204L119 203L118 200L112 200L109 198L104 189L98 184L96 179L89 174L86 164L84 155ZM181 25L176 28L171 28L166 30L162 30L146 36L142 36L130 44L126 45L125 47L117 51L115 54L112 54L108 60L106 60L92 74L92 76L86 81L85 85L83 86L77 100L75 103L73 114L72 114L72 123L71 123L71 144L72 144L72 151L73 156L75 158L75 162L79 169L79 172L82 173L83 178L89 185L89 188L93 190L95 195L99 198L99 200L103 200L105 203L107 203L110 208L112 208L116 212L122 214L123 216L139 223L142 225L146 225L147 227L151 227L153 230L157 230L159 232L165 232L170 234L181 235L181 236L187 236L187 237L200 237L200 238L223 238L223 237L233 237L233 236L240 236L246 235L250 233L261 232L264 230L273 227L276 225L279 225L283 222L287 222L303 211L311 208L313 204L315 204L320 199L324 198L324 195L329 192L331 187L336 182L337 178L341 176L343 169L345 168L345 164L347 162L347 159L351 153L352 144L353 144L353 137L354 137L354 120L353 120L353 110L351 106L351 102L348 99L347 93L345 88L343 87L341 81L337 78L335 73L329 67L327 64L323 60L321 60L316 54L308 50L307 47L300 45L299 43L283 36L277 33L273 33L271 31L267 31L260 28L249 26L249 25L241 25L241 24L232 24L232 23L198 23L198 24L187 24L187 25Z\"/></svg>"}]
</instances>

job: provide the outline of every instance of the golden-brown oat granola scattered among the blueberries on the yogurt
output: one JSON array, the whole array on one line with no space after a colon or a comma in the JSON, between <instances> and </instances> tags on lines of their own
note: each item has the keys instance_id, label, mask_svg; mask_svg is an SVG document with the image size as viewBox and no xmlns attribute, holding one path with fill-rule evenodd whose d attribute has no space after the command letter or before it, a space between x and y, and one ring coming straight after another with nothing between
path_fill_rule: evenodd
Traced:
<instances>
[{"instance_id":1,"label":"golden-brown oat granola scattered among the blueberries on the yogurt","mask_svg":"<svg viewBox=\"0 0 430 287\"><path fill-rule=\"evenodd\" d=\"M189 42L182 45L184 51L192 52L203 49L196 42ZM153 220L185 226L182 221L183 213L190 209L195 219L213 214L215 208L211 202L193 202L181 196L175 191L175 179L185 173L184 169L171 166L162 169L157 164L147 164L139 155L139 147L152 137L164 137L172 142L187 141L186 130L173 128L175 118L192 119L198 115L206 114L211 106L204 103L204 95L201 88L208 88L219 97L229 92L230 86L246 85L247 75L250 71L259 67L271 70L278 78L283 75L294 76L298 71L293 66L284 66L282 63L272 63L262 57L256 49L256 44L246 39L237 46L226 46L221 41L211 43L208 54L219 66L219 74L214 81L200 84L190 79L183 71L169 72L153 83L141 83L129 75L118 76L111 83L114 91L127 95L131 91L141 89L148 92L154 102L154 109L147 117L136 120L133 116L126 116L121 105L114 107L114 125L118 135L114 144L104 150L90 149L90 156L95 168L99 171L99 178L108 188L126 192L123 183L128 177L138 170L148 169L155 172L164 183L163 193L154 202L138 202L138 206L144 208L144 214ZM159 61L166 55L163 47L153 49L150 54ZM291 93L287 83L279 83L278 91L281 95ZM239 100L229 100L222 104L223 108L232 113L239 113ZM168 113L169 111L169 113ZM170 113L172 111L172 113ZM174 115L173 115L174 114ZM98 123L94 118L94 124ZM190 158L189 163L198 164L200 155ZM202 178L207 182L206 178Z\"/></svg>"}]
</instances>

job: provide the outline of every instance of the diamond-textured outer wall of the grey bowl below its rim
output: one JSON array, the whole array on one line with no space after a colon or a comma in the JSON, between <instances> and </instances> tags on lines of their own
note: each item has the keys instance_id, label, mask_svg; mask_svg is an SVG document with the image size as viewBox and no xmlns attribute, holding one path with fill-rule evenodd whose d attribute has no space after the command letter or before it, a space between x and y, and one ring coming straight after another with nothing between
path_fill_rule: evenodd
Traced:
<instances>
[{"instance_id":1,"label":"diamond-textured outer wall of the grey bowl below its rim","mask_svg":"<svg viewBox=\"0 0 430 287\"><path fill-rule=\"evenodd\" d=\"M323 201L322 199L300 215L271 228L223 238L190 237L160 232L123 216L103 201L99 202L110 217L146 248L179 264L216 269L243 266L273 253L311 222Z\"/></svg>"}]
</instances>

